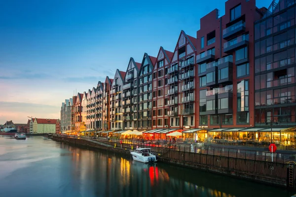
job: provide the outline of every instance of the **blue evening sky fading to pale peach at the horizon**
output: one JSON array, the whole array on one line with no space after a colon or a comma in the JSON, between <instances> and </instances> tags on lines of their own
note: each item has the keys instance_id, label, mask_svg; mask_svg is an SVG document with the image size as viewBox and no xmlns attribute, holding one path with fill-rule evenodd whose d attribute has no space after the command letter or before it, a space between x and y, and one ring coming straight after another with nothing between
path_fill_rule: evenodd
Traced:
<instances>
[{"instance_id":1,"label":"blue evening sky fading to pale peach at the horizon","mask_svg":"<svg viewBox=\"0 0 296 197\"><path fill-rule=\"evenodd\" d=\"M130 57L174 51L181 30L225 0L0 1L0 124L60 118L62 102L126 71ZM271 0L257 0L268 7Z\"/></svg>"}]
</instances>

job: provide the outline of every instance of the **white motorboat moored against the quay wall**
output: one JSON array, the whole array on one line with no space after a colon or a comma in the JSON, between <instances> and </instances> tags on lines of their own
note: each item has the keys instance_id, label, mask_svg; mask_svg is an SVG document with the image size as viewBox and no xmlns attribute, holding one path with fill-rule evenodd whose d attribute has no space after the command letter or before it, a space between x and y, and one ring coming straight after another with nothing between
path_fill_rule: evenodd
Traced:
<instances>
[{"instance_id":1,"label":"white motorboat moored against the quay wall","mask_svg":"<svg viewBox=\"0 0 296 197\"><path fill-rule=\"evenodd\" d=\"M133 160L142 163L154 163L157 162L156 156L150 152L150 148L137 148L136 150L131 150L131 155Z\"/></svg>"}]
</instances>

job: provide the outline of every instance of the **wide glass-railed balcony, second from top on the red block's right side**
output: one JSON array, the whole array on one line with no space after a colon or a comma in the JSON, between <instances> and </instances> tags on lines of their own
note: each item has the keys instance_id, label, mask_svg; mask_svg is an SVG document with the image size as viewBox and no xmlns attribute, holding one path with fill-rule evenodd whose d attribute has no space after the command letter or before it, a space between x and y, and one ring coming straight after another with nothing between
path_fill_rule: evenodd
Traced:
<instances>
[{"instance_id":1,"label":"wide glass-railed balcony, second from top on the red block's right side","mask_svg":"<svg viewBox=\"0 0 296 197\"><path fill-rule=\"evenodd\" d=\"M232 40L229 40L228 42L225 42L223 52L232 53L234 50L247 46L248 44L249 44L249 34L244 34Z\"/></svg>"}]
</instances>

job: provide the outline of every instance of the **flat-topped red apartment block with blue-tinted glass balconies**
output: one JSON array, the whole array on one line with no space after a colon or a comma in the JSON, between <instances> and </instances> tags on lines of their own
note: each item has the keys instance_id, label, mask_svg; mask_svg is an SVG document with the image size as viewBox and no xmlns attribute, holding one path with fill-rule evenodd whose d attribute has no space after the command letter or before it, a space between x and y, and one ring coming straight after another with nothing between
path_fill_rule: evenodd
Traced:
<instances>
[{"instance_id":1,"label":"flat-topped red apartment block with blue-tinted glass balconies","mask_svg":"<svg viewBox=\"0 0 296 197\"><path fill-rule=\"evenodd\" d=\"M255 0L228 0L225 15L215 9L201 18L197 126L254 127L254 22L261 16Z\"/></svg>"}]
</instances>

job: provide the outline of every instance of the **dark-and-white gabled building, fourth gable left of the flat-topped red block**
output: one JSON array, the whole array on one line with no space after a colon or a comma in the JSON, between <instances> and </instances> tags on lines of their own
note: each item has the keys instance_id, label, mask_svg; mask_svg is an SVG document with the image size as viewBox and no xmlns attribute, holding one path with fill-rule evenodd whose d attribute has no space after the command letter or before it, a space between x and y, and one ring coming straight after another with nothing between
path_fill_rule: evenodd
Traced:
<instances>
[{"instance_id":1,"label":"dark-and-white gabled building, fourth gable left of the flat-topped red block","mask_svg":"<svg viewBox=\"0 0 296 197\"><path fill-rule=\"evenodd\" d=\"M122 113L123 129L137 129L138 120L138 73L141 63L137 63L130 58L123 81Z\"/></svg>"}]
</instances>

